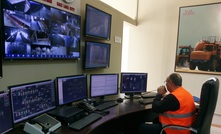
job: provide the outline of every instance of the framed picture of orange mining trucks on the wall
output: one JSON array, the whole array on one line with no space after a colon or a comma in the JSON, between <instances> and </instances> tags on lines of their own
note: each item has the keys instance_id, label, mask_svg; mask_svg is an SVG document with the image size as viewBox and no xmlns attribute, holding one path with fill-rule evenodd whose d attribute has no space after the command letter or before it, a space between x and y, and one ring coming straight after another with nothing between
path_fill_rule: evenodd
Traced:
<instances>
[{"instance_id":1,"label":"framed picture of orange mining trucks on the wall","mask_svg":"<svg viewBox=\"0 0 221 134\"><path fill-rule=\"evenodd\" d=\"M175 71L221 74L221 3L179 9Z\"/></svg>"}]
</instances>

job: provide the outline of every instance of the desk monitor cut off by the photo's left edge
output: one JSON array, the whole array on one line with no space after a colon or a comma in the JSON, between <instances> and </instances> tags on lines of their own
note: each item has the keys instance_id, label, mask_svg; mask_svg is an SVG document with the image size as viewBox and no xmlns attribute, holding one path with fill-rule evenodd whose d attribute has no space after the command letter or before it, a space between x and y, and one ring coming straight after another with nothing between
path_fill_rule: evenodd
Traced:
<instances>
[{"instance_id":1,"label":"desk monitor cut off by the photo's left edge","mask_svg":"<svg viewBox=\"0 0 221 134\"><path fill-rule=\"evenodd\" d=\"M9 92L0 92L0 134L12 129L12 115Z\"/></svg>"}]
</instances>

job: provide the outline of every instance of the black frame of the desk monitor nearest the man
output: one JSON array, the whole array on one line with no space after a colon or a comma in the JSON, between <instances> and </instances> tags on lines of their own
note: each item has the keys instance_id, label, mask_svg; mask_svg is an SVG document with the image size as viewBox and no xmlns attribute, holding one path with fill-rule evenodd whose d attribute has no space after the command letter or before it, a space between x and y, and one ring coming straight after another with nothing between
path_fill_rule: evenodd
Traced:
<instances>
[{"instance_id":1,"label":"black frame of the desk monitor nearest the man","mask_svg":"<svg viewBox=\"0 0 221 134\"><path fill-rule=\"evenodd\" d=\"M123 75L141 75L141 74L144 74L146 75L146 88L145 90L140 90L140 91L125 91L125 90L122 90L122 85L123 85ZM148 81L148 73L144 73L144 72L121 72L121 78L120 78L120 93L124 93L124 94L128 94L128 95L131 95L131 94L140 94L142 92L146 92L147 91L147 81Z\"/></svg>"}]
</instances>

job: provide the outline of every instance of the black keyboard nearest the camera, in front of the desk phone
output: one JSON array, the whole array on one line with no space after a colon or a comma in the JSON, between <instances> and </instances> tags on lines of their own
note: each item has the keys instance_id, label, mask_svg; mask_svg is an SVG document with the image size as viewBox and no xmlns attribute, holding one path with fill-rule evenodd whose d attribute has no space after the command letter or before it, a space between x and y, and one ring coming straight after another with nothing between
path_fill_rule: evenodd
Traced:
<instances>
[{"instance_id":1,"label":"black keyboard nearest the camera, in front of the desk phone","mask_svg":"<svg viewBox=\"0 0 221 134\"><path fill-rule=\"evenodd\" d=\"M97 121L98 119L100 119L102 117L101 114L97 114L97 113L90 113L89 115L81 118L80 120L72 123L69 125L70 128L73 128L75 130L81 130L82 128L88 126L89 124Z\"/></svg>"}]
</instances>

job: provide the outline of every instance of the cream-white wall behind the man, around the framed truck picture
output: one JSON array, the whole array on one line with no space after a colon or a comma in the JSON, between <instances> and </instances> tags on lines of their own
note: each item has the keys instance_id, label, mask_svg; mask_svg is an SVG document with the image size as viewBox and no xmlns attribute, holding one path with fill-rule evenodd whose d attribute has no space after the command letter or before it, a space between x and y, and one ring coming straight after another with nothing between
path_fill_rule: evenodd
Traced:
<instances>
[{"instance_id":1,"label":"cream-white wall behind the man, around the framed truck picture","mask_svg":"<svg viewBox=\"0 0 221 134\"><path fill-rule=\"evenodd\" d=\"M221 2L220 0L139 0L138 25L130 28L128 70L149 73L148 89L162 85L174 72L179 7ZM180 73L183 86L199 96L202 83L220 75ZM221 88L221 86L220 86ZM221 91L216 114L221 113ZM220 124L220 123L219 123Z\"/></svg>"}]
</instances>

